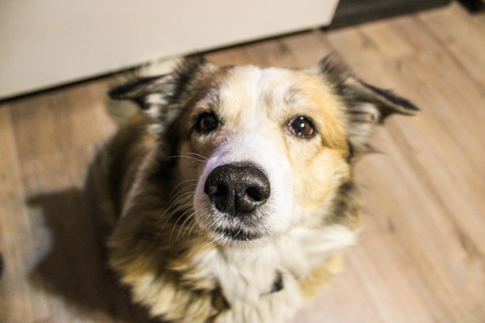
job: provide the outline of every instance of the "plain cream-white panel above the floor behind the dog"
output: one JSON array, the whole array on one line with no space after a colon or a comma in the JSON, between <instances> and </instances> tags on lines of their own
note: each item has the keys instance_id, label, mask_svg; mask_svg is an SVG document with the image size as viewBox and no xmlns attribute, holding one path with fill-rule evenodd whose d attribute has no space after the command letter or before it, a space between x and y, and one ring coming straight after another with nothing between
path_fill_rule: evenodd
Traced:
<instances>
[{"instance_id":1,"label":"plain cream-white panel above the floor behind the dog","mask_svg":"<svg viewBox=\"0 0 485 323\"><path fill-rule=\"evenodd\" d=\"M328 25L338 0L0 0L0 99Z\"/></svg>"}]
</instances>

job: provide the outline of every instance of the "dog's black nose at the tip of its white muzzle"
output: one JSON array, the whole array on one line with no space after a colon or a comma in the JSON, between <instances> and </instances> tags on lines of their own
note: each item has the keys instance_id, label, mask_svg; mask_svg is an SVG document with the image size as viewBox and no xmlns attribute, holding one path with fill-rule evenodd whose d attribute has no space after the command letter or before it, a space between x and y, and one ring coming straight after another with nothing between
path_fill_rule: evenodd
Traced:
<instances>
[{"instance_id":1,"label":"dog's black nose at the tip of its white muzzle","mask_svg":"<svg viewBox=\"0 0 485 323\"><path fill-rule=\"evenodd\" d=\"M226 164L210 172L204 193L219 211L244 215L253 213L270 197L270 182L256 167Z\"/></svg>"}]
</instances>

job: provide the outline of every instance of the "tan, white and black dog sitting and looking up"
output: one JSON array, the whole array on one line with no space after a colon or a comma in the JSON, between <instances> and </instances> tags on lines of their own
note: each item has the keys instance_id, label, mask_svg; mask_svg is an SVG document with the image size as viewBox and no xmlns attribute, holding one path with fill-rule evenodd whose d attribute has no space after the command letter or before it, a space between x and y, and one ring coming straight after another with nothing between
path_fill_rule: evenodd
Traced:
<instances>
[{"instance_id":1,"label":"tan, white and black dog sitting and looking up","mask_svg":"<svg viewBox=\"0 0 485 323\"><path fill-rule=\"evenodd\" d=\"M109 94L139 111L93 164L108 261L179 323L291 320L356 239L372 129L419 111L335 54L304 70L190 56Z\"/></svg>"}]
</instances>

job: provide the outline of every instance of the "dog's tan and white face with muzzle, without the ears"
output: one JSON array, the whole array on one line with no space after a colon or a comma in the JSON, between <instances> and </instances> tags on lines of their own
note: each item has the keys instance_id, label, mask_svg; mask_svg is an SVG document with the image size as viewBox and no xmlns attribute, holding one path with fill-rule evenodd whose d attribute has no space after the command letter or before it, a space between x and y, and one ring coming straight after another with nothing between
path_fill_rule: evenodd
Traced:
<instances>
[{"instance_id":1,"label":"dog's tan and white face with muzzle, without the ears","mask_svg":"<svg viewBox=\"0 0 485 323\"><path fill-rule=\"evenodd\" d=\"M196 222L223 243L321 222L349 177L338 100L308 72L237 66L215 73L179 119L187 127L178 153L207 158L179 162L182 180L197 179Z\"/></svg>"}]
</instances>

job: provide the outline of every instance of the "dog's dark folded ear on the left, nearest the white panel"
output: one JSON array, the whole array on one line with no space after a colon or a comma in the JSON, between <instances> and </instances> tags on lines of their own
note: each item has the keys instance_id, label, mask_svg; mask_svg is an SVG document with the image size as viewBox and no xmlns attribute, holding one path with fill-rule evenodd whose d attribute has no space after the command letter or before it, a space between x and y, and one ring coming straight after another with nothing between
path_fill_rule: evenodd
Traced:
<instances>
[{"instance_id":1,"label":"dog's dark folded ear on the left, nearest the white panel","mask_svg":"<svg viewBox=\"0 0 485 323\"><path fill-rule=\"evenodd\" d=\"M112 88L112 99L131 100L155 119L166 120L178 113L174 103L190 91L210 64L202 56L185 57L171 72L151 77L135 77ZM171 119L171 118L170 118Z\"/></svg>"}]
</instances>

